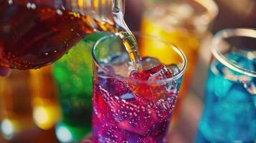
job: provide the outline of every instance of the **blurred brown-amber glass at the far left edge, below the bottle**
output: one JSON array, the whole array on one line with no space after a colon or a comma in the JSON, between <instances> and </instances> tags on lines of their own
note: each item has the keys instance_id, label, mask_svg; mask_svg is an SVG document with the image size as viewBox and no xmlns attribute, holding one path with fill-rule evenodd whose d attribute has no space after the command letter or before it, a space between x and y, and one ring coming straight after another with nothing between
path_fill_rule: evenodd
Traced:
<instances>
[{"instance_id":1,"label":"blurred brown-amber glass at the far left edge, below the bottle","mask_svg":"<svg viewBox=\"0 0 256 143\"><path fill-rule=\"evenodd\" d=\"M11 71L0 77L1 134L11 140L16 134L34 128L29 91L29 71Z\"/></svg>"}]
</instances>

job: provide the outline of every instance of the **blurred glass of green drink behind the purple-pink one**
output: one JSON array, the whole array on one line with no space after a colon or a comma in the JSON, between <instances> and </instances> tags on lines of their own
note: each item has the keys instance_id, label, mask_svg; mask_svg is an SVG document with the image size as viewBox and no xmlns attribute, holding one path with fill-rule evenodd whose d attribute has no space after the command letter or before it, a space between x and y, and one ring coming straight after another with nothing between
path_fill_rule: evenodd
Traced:
<instances>
[{"instance_id":1,"label":"blurred glass of green drink behind the purple-pink one","mask_svg":"<svg viewBox=\"0 0 256 143\"><path fill-rule=\"evenodd\" d=\"M79 142L91 131L93 44L104 33L90 34L54 64L53 75L59 89L62 121L56 135L60 142Z\"/></svg>"}]
</instances>

